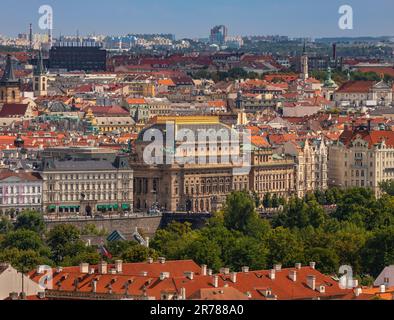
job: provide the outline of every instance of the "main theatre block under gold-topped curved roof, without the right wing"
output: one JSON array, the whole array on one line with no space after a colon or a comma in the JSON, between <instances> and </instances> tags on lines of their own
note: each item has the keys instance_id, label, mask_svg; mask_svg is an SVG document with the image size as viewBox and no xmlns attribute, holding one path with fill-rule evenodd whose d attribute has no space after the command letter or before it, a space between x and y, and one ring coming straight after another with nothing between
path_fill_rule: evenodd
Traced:
<instances>
[{"instance_id":1,"label":"main theatre block under gold-topped curved roof, without the right wing","mask_svg":"<svg viewBox=\"0 0 394 320\"><path fill-rule=\"evenodd\" d=\"M140 133L132 156L135 209L149 210L157 206L167 211L210 212L218 210L231 191L249 189L249 171L237 171L236 168L242 169L242 164L237 166L231 160L224 160L231 159L231 154L240 154L240 145L230 145L228 140L220 140L214 147L208 141L195 143L199 132L230 133L231 128L221 124L219 117L158 117L155 121ZM174 137L167 138L168 123L173 125L174 132L191 130L195 141L185 144L174 141ZM171 141L172 147L162 150L163 159L159 159L162 164L146 162L150 140L143 140L149 130L161 132L164 141ZM215 161L210 161L209 156L214 156ZM172 157L193 160L182 164L171 161Z\"/></svg>"}]
</instances>

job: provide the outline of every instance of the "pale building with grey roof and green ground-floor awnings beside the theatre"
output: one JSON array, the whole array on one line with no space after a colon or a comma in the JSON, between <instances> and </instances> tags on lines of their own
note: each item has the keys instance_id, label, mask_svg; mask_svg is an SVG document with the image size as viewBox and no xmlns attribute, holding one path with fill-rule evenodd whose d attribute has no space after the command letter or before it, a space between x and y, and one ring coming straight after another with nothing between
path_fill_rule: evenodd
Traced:
<instances>
[{"instance_id":1,"label":"pale building with grey roof and green ground-floor awnings beside the theatre","mask_svg":"<svg viewBox=\"0 0 394 320\"><path fill-rule=\"evenodd\" d=\"M45 212L92 215L133 208L127 156L100 149L50 150L43 155L40 173Z\"/></svg>"}]
</instances>

